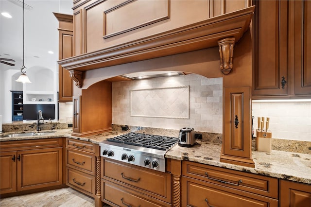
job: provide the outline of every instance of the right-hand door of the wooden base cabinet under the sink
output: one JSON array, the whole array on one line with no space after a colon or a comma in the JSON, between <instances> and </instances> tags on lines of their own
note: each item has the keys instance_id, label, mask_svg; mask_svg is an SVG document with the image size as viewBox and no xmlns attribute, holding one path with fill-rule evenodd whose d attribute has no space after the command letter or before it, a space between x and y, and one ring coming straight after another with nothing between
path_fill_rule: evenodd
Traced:
<instances>
[{"instance_id":1,"label":"right-hand door of the wooden base cabinet under the sink","mask_svg":"<svg viewBox=\"0 0 311 207\"><path fill-rule=\"evenodd\" d=\"M17 151L17 190L61 185L62 147Z\"/></svg>"}]
</instances>

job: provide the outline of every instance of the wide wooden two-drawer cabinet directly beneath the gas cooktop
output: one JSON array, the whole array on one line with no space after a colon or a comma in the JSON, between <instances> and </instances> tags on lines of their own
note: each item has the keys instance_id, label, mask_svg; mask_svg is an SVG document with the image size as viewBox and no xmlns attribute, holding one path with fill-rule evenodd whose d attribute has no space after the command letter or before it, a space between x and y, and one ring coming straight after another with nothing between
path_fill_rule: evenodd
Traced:
<instances>
[{"instance_id":1,"label":"wide wooden two-drawer cabinet directly beneath the gas cooktop","mask_svg":"<svg viewBox=\"0 0 311 207\"><path fill-rule=\"evenodd\" d=\"M171 174L102 158L102 201L113 206L171 206Z\"/></svg>"}]
</instances>

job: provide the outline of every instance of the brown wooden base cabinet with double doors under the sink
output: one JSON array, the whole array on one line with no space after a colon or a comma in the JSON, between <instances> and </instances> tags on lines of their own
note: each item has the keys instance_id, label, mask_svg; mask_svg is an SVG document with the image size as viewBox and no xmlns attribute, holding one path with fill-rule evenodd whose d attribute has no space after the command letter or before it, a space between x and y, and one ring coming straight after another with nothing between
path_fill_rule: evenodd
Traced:
<instances>
[{"instance_id":1,"label":"brown wooden base cabinet with double doors under the sink","mask_svg":"<svg viewBox=\"0 0 311 207\"><path fill-rule=\"evenodd\" d=\"M62 185L62 155L62 138L1 142L1 194Z\"/></svg>"}]
</instances>

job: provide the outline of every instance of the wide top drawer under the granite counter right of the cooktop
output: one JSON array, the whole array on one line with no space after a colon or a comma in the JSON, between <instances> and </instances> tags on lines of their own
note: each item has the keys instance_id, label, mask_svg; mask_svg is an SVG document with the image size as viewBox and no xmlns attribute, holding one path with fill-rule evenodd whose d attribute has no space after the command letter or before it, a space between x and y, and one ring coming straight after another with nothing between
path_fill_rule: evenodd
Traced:
<instances>
[{"instance_id":1,"label":"wide top drawer under the granite counter right of the cooktop","mask_svg":"<svg viewBox=\"0 0 311 207\"><path fill-rule=\"evenodd\" d=\"M184 176L229 188L244 190L276 199L278 198L277 178L253 173L244 173L189 161L184 161L182 163L182 174Z\"/></svg>"}]
</instances>

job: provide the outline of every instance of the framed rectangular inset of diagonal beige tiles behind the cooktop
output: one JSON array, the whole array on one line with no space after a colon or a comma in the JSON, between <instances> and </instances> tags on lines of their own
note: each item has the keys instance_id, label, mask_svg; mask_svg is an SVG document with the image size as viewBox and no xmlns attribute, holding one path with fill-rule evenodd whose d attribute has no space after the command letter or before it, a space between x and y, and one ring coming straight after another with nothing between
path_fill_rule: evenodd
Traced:
<instances>
[{"instance_id":1,"label":"framed rectangular inset of diagonal beige tiles behind the cooktop","mask_svg":"<svg viewBox=\"0 0 311 207\"><path fill-rule=\"evenodd\" d=\"M189 119L189 86L131 90L131 116Z\"/></svg>"}]
</instances>

